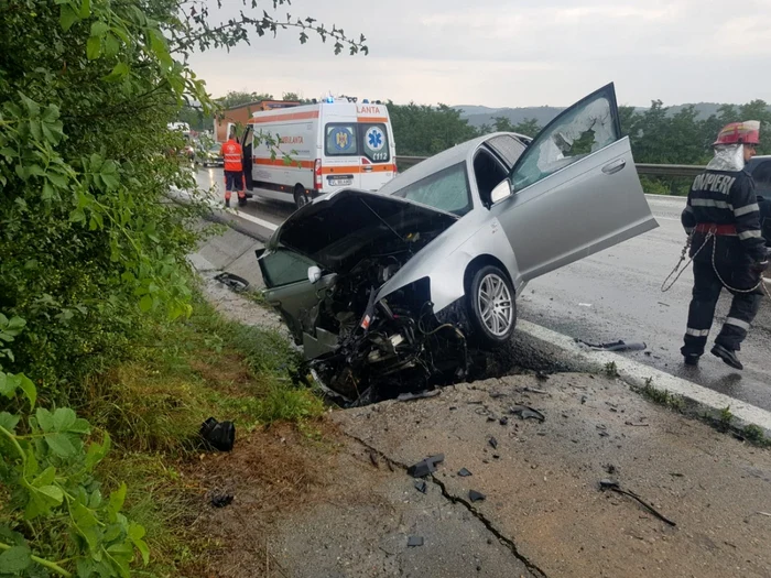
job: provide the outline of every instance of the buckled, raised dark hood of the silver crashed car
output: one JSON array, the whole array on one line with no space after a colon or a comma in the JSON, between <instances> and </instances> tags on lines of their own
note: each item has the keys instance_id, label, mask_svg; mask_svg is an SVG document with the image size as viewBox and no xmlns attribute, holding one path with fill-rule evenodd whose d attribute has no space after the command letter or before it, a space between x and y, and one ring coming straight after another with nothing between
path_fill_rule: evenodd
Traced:
<instances>
[{"instance_id":1,"label":"buckled, raised dark hood of the silver crashed car","mask_svg":"<svg viewBox=\"0 0 771 578\"><path fill-rule=\"evenodd\" d=\"M344 189L297 209L265 249L282 246L344 274L365 257L416 252L458 218L399 197Z\"/></svg>"}]
</instances>

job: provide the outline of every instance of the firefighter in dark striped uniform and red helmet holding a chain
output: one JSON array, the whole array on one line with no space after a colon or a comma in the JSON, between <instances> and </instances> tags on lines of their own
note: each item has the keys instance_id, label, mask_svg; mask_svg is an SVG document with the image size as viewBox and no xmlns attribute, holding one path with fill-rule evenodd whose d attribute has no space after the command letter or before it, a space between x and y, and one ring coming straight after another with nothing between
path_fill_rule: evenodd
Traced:
<instances>
[{"instance_id":1,"label":"firefighter in dark striped uniform and red helmet holding a chain","mask_svg":"<svg viewBox=\"0 0 771 578\"><path fill-rule=\"evenodd\" d=\"M713 144L715 156L707 171L694 179L688 193L682 222L692 235L694 288L681 349L688 366L696 366L704 353L715 307L726 286L734 301L712 353L735 369L743 369L737 351L760 307L761 273L768 266L754 182L743 170L754 156L759 139L758 121L726 126Z\"/></svg>"}]
</instances>

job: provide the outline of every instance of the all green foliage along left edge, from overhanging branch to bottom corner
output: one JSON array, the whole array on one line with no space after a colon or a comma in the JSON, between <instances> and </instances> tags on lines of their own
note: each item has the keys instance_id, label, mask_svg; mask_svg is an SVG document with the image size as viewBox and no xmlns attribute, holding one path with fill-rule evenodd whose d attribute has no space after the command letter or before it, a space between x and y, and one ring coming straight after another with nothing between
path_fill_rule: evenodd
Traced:
<instances>
[{"instance_id":1,"label":"all green foliage along left edge, from overhanging branch to bottom corner","mask_svg":"<svg viewBox=\"0 0 771 578\"><path fill-rule=\"evenodd\" d=\"M185 255L203 203L167 200L195 189L169 123L188 102L207 116L217 105L187 65L191 51L295 29L301 42L315 31L337 53L367 52L363 36L313 19L242 12L211 24L209 10L198 0L0 0L3 576L129 576L134 559L148 561L144 528L121 513L126 486L105 498L94 475L109 435L93 440L64 405L87 397L85 378L130 353L156 319L192 312Z\"/></svg>"}]
</instances>

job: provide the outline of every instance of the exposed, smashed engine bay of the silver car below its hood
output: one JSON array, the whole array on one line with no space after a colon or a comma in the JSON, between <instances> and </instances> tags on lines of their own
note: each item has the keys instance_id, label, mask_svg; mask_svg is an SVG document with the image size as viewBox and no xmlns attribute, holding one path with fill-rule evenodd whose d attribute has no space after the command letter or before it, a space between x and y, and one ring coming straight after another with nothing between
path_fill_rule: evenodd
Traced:
<instances>
[{"instance_id":1,"label":"exposed, smashed engine bay of the silver car below its hood","mask_svg":"<svg viewBox=\"0 0 771 578\"><path fill-rule=\"evenodd\" d=\"M400 252L362 259L321 301L316 328L337 335L337 348L311 367L346 404L455 382L468 372L463 307L448 315L452 320L439 320L427 277L376 303L378 288L410 258Z\"/></svg>"}]
</instances>

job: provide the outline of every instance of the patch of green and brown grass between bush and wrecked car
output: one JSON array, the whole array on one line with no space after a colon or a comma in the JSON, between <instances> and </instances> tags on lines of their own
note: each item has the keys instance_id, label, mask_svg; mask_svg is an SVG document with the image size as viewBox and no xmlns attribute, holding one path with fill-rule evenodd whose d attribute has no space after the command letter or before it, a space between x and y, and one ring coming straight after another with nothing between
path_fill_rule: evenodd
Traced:
<instances>
[{"instance_id":1,"label":"patch of green and brown grass between bush and wrecked car","mask_svg":"<svg viewBox=\"0 0 771 578\"><path fill-rule=\"evenodd\" d=\"M189 319L159 323L130 361L87 382L80 411L115 443L101 478L107 489L126 481L128 515L148 530L152 561L137 576L203 572L213 545L189 530L203 490L183 472L203 451L207 417L235 422L237 439L274 422L317 437L324 405L300 367L281 335L226 320L197 297Z\"/></svg>"}]
</instances>

